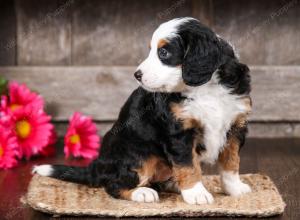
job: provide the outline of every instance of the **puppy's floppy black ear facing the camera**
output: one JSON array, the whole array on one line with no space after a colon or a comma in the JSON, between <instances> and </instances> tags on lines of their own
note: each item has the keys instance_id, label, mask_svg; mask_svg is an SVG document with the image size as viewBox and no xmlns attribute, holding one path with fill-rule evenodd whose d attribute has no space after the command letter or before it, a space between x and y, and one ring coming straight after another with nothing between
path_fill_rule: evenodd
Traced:
<instances>
[{"instance_id":1,"label":"puppy's floppy black ear facing the camera","mask_svg":"<svg viewBox=\"0 0 300 220\"><path fill-rule=\"evenodd\" d=\"M222 45L216 36L197 35L186 41L182 78L189 86L208 82L222 64Z\"/></svg>"}]
</instances>

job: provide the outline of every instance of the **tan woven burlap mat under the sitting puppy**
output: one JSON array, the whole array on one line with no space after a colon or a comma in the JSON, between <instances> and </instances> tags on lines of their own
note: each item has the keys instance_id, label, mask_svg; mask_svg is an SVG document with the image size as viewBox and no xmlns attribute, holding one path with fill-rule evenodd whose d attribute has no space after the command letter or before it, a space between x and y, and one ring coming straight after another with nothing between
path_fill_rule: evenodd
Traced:
<instances>
[{"instance_id":1,"label":"tan woven burlap mat under the sitting puppy","mask_svg":"<svg viewBox=\"0 0 300 220\"><path fill-rule=\"evenodd\" d=\"M268 176L246 174L241 178L253 192L234 198L222 193L218 176L204 176L204 185L215 202L188 205L178 194L162 193L159 203L137 203L113 199L100 188L35 175L23 201L36 210L54 215L266 217L283 213L285 203Z\"/></svg>"}]
</instances>

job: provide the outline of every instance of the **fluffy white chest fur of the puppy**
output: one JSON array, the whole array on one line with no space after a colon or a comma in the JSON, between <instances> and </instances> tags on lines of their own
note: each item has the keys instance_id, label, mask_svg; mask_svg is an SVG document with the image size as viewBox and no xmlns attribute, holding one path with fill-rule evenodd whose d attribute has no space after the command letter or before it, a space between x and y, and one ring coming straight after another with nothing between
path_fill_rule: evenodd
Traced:
<instances>
[{"instance_id":1,"label":"fluffy white chest fur of the puppy","mask_svg":"<svg viewBox=\"0 0 300 220\"><path fill-rule=\"evenodd\" d=\"M201 160L214 163L226 142L226 133L241 113L247 112L242 96L230 94L230 90L218 83L218 77L205 85L190 88L185 93L187 100L183 104L186 116L199 120L204 128L206 151Z\"/></svg>"}]
</instances>

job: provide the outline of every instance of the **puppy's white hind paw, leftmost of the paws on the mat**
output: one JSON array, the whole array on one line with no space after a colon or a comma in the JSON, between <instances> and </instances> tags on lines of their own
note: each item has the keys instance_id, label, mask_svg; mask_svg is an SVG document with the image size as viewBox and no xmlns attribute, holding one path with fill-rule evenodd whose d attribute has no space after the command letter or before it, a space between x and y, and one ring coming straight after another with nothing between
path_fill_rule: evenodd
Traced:
<instances>
[{"instance_id":1,"label":"puppy's white hind paw, leftmost of the paws on the mat","mask_svg":"<svg viewBox=\"0 0 300 220\"><path fill-rule=\"evenodd\" d=\"M158 194L154 189L138 187L131 194L131 200L136 202L158 202Z\"/></svg>"}]
</instances>

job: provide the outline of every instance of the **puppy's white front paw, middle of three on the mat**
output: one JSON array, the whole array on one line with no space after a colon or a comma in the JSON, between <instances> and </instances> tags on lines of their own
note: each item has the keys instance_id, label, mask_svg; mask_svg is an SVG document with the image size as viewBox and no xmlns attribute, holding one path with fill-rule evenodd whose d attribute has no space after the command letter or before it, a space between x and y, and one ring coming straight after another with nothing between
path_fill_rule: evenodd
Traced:
<instances>
[{"instance_id":1,"label":"puppy's white front paw, middle of three on the mat","mask_svg":"<svg viewBox=\"0 0 300 220\"><path fill-rule=\"evenodd\" d=\"M202 182L196 183L193 188L181 191L183 200L188 204L211 204L213 196L206 190Z\"/></svg>"}]
</instances>

